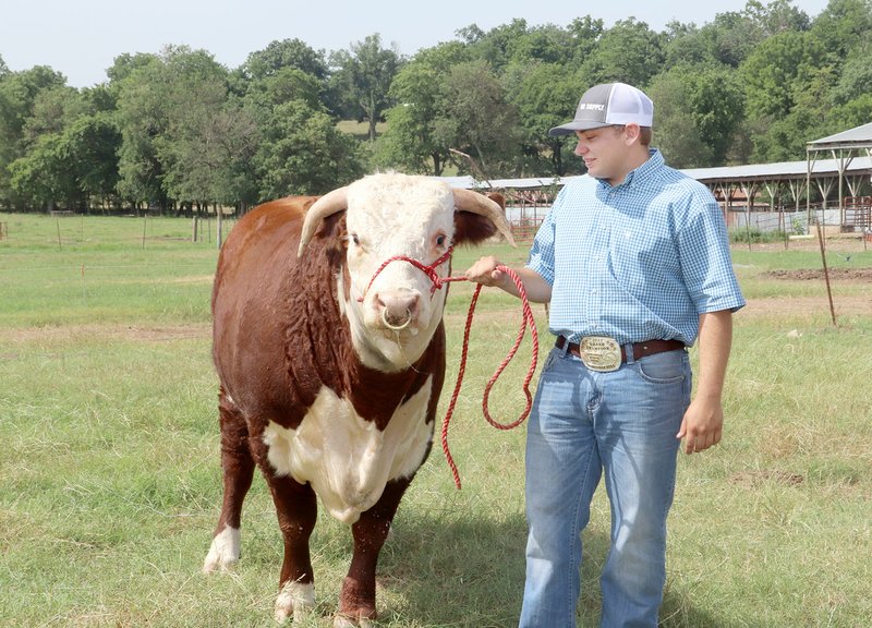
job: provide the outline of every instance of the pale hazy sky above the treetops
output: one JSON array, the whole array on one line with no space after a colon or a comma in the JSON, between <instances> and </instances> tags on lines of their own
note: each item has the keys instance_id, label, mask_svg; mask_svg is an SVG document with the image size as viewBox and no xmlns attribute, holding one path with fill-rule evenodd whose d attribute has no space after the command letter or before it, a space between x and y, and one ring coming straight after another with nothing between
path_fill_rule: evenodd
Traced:
<instances>
[{"instance_id":1,"label":"pale hazy sky above the treetops","mask_svg":"<svg viewBox=\"0 0 872 628\"><path fill-rule=\"evenodd\" d=\"M107 80L106 70L124 53L160 52L184 45L210 52L234 69L271 41L301 39L315 50L350 50L378 34L411 57L421 48L455 39L477 25L487 32L526 21L528 27L568 26L591 15L610 27L635 17L656 32L677 20L698 26L718 13L742 11L746 0L11 0L0 10L0 58L13 72L48 65L73 87ZM11 4L11 5L10 5ZM763 0L763 4L767 4ZM794 0L814 19L827 0Z\"/></svg>"}]
</instances>

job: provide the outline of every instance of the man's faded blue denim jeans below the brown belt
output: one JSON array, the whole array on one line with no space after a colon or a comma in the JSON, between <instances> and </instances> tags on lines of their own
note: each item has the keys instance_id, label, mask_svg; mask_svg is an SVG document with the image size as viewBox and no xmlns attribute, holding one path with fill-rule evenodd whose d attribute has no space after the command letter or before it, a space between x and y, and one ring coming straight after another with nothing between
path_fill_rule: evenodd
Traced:
<instances>
[{"instance_id":1,"label":"man's faded blue denim jeans below the brown belt","mask_svg":"<svg viewBox=\"0 0 872 628\"><path fill-rule=\"evenodd\" d=\"M676 434L690 403L686 351L610 373L565 349L543 366L526 437L526 583L521 628L573 628L581 531L605 471L611 545L601 575L603 628L657 625L666 582L666 517Z\"/></svg>"}]
</instances>

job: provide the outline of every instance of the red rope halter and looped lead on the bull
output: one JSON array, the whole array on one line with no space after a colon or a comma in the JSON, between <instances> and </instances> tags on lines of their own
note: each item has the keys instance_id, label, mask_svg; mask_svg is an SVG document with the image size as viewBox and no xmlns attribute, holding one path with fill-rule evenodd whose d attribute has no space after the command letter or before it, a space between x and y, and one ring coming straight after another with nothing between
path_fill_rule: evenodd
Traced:
<instances>
[{"instance_id":1,"label":"red rope halter and looped lead on the bull","mask_svg":"<svg viewBox=\"0 0 872 628\"><path fill-rule=\"evenodd\" d=\"M465 277L439 277L436 273L436 268L444 264L448 257L450 257L451 253L453 252L452 247L449 247L445 254L436 259L429 266L425 266L417 259L413 259L411 257L407 257L404 255L398 255L396 257L390 257L387 259L378 269L373 274L373 278L370 280L370 283L366 287L366 290L370 289L370 286L373 285L375 278L378 276L385 267L390 264L391 262L402 261L412 264L415 268L423 271L429 280L433 281L433 290L432 292L436 292L436 290L440 289L443 285L448 283L449 281L468 281ZM497 266L498 270L506 273L511 277L514 281L514 286L518 288L518 293L521 297L522 310L523 310L523 318L521 321L521 327L518 330L518 337L514 340L514 346L506 355L502 363L496 370L494 375L491 377L491 381L484 388L484 395L482 397L482 412L484 413L484 418L487 420L491 425L496 427L497 430L512 430L524 422L524 420L530 414L530 410L533 406L533 396L530 394L530 382L533 379L533 375L536 372L536 364L538 362L538 333L536 331L536 322L533 317L533 311L530 309L530 301L526 298L526 290L524 289L524 285L521 281L518 274L509 268L508 266L499 265ZM479 293L482 291L482 285L479 283L475 286L475 292L472 294L472 301L470 301L470 310L467 314L467 326L463 330L463 348L460 357L460 369L458 370L457 374L457 384L455 385L455 392L451 395L451 401L448 403L448 410L445 413L445 419L443 420L443 432L441 432L441 443L443 443L443 451L445 452L445 458L448 461L448 466L451 468L451 475L455 478L455 485L460 488L460 473L457 469L457 463L455 463L455 459L451 457L451 451L448 448L448 423L451 421L451 415L455 413L455 406L457 404L457 399L460 396L460 387L463 384L463 374L467 371L467 357L469 354L469 346L470 346L470 329L472 328L472 317L475 313L475 305L479 302ZM363 298L360 299L361 301ZM524 377L524 395L526 396L526 408L521 413L521 415L513 421L512 423L499 423L491 418L491 411L487 407L487 400L491 397L491 389L496 384L499 376L502 374L502 371L509 365L514 354L518 352L518 348L521 346L521 341L526 334L526 326L530 325L530 335L532 338L533 350L532 357L530 359L530 369L526 372L526 376Z\"/></svg>"}]
</instances>

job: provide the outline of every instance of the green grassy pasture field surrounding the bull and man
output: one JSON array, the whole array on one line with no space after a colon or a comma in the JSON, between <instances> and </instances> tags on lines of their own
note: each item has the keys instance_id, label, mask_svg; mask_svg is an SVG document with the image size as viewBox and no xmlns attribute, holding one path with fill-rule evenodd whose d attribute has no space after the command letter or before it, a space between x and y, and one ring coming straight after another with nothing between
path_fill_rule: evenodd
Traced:
<instances>
[{"instance_id":1,"label":"green grassy pasture field surrounding the bull and man","mask_svg":"<svg viewBox=\"0 0 872 628\"><path fill-rule=\"evenodd\" d=\"M171 218L0 221L0 626L275 626L281 542L262 479L237 569L199 571L221 488L215 243L192 243L190 222ZM823 280L800 273L821 267L816 242L734 249L749 305L735 317L725 437L680 456L663 626L872 621L872 251L827 246L836 326ZM523 246L461 250L455 271L484 252L525 257ZM465 282L450 290L440 419L472 293ZM552 337L544 309L534 311L542 361ZM483 291L449 432L463 488L437 425L382 554L379 627L517 621L524 426L493 428L481 399L520 321L517 301ZM523 410L529 355L525 343L492 394L495 419ZM608 544L602 491L584 542L579 625L595 626ZM322 515L318 605L303 628L330 626L350 546L347 528Z\"/></svg>"}]
</instances>

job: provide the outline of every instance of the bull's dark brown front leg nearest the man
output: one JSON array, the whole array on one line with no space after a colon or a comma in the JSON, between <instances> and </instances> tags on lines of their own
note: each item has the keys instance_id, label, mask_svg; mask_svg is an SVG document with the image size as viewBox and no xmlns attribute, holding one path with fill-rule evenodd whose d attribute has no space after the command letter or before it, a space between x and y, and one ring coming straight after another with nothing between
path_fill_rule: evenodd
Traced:
<instances>
[{"instance_id":1,"label":"bull's dark brown front leg nearest the man","mask_svg":"<svg viewBox=\"0 0 872 628\"><path fill-rule=\"evenodd\" d=\"M385 544L390 522L397 514L410 479L388 482L378 502L351 527L354 554L339 596L339 615L335 628L368 626L375 619L375 570L378 554Z\"/></svg>"}]
</instances>

